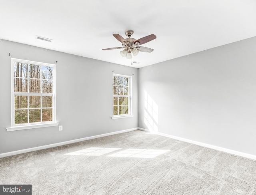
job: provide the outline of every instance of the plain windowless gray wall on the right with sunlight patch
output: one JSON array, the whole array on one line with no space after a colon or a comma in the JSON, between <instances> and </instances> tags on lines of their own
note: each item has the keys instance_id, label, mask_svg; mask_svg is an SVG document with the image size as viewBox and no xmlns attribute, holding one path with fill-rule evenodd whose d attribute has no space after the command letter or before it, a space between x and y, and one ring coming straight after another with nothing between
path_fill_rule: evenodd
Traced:
<instances>
[{"instance_id":1,"label":"plain windowless gray wall on the right with sunlight patch","mask_svg":"<svg viewBox=\"0 0 256 195\"><path fill-rule=\"evenodd\" d=\"M138 77L139 127L256 155L256 37L140 68Z\"/></svg>"}]
</instances>

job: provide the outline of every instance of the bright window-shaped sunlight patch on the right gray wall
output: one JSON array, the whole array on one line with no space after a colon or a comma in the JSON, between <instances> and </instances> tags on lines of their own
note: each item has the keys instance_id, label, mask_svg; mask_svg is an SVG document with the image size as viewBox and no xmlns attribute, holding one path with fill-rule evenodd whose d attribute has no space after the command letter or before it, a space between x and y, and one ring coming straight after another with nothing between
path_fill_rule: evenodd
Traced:
<instances>
[{"instance_id":1,"label":"bright window-shaped sunlight patch on the right gray wall","mask_svg":"<svg viewBox=\"0 0 256 195\"><path fill-rule=\"evenodd\" d=\"M144 90L144 123L150 132L158 132L158 105Z\"/></svg>"}]
</instances>

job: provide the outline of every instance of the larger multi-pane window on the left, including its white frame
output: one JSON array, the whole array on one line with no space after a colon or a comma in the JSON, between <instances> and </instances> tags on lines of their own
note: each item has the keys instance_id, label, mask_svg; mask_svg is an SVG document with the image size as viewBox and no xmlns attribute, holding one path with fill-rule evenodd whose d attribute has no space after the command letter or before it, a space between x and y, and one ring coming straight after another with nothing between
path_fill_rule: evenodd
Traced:
<instances>
[{"instance_id":1,"label":"larger multi-pane window on the left, including its white frame","mask_svg":"<svg viewBox=\"0 0 256 195\"><path fill-rule=\"evenodd\" d=\"M12 127L55 122L55 64L11 59Z\"/></svg>"}]
</instances>

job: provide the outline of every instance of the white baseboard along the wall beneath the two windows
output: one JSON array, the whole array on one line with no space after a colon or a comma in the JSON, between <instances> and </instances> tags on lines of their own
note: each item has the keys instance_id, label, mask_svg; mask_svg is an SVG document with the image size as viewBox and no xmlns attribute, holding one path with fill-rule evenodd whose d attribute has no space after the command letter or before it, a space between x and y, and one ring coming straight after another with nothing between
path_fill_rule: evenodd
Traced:
<instances>
[{"instance_id":1,"label":"white baseboard along the wall beneath the two windows","mask_svg":"<svg viewBox=\"0 0 256 195\"><path fill-rule=\"evenodd\" d=\"M12 151L12 152L1 153L0 158L6 157L6 156L12 156L12 155L16 155L16 154L27 153L27 152L31 152L31 151L36 151L36 150L40 150L40 149L46 149L46 148L50 148L50 147L56 147L56 146L60 146L60 145L66 145L66 144L70 144L70 143L76 143L76 142L80 142L80 141L86 141L89 139L95 139L95 138L99 138L99 137L106 137L109 135L115 135L115 134L125 133L128 131L134 131L134 130L138 130L138 128L126 129L126 130L122 130L122 131L115 131L112 133L105 133L105 134L101 134L101 135L94 135L91 137L84 137L84 138L80 138L80 139L73 139L70 141L63 141L63 142L53 143L53 144L49 144L49 145L42 145L42 146L32 147L32 148L28 148L28 149L22 149L22 150L17 150L17 151Z\"/></svg>"}]
</instances>

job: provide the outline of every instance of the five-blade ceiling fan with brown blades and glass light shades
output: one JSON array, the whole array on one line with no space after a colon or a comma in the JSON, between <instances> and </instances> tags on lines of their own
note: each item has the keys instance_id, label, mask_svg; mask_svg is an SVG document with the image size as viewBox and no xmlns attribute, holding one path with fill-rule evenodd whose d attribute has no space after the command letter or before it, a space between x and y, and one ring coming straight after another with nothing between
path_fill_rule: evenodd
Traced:
<instances>
[{"instance_id":1,"label":"five-blade ceiling fan with brown blades and glass light shades","mask_svg":"<svg viewBox=\"0 0 256 195\"><path fill-rule=\"evenodd\" d=\"M139 45L145 44L149 41L152 41L156 38L154 34L150 34L148 36L145 36L143 38L140 38L138 40L131 38L133 35L132 30L128 30L125 32L126 36L128 38L124 39L122 36L119 34L113 34L113 36L122 43L122 47L117 47L117 48L107 48L107 49L102 49L102 50L115 50L115 49L124 49L120 52L122 57L126 57L127 59L132 58L133 56L137 56L139 52L153 52L153 49L151 48L146 48L146 47L140 47Z\"/></svg>"}]
</instances>

